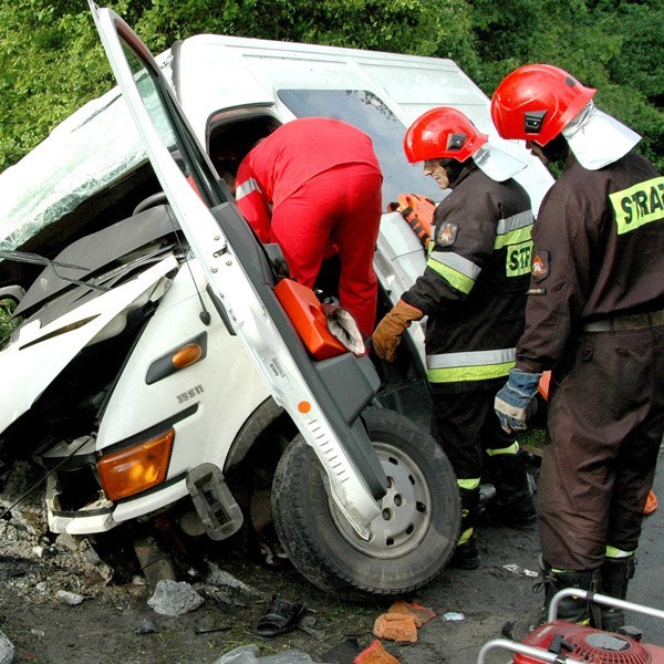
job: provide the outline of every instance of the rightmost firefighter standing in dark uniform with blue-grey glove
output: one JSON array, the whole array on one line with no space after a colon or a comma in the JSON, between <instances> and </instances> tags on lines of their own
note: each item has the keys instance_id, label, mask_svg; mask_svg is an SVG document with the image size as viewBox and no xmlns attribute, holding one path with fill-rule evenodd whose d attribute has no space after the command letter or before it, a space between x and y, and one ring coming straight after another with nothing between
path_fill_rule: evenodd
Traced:
<instances>
[{"instance_id":1,"label":"rightmost firefighter standing in dark uniform with blue-grey glove","mask_svg":"<svg viewBox=\"0 0 664 664\"><path fill-rule=\"evenodd\" d=\"M594 94L531 64L491 100L502 137L564 162L533 228L526 330L496 397L505 430L521 430L552 370L538 488L544 608L567 587L625 598L664 433L664 178ZM559 616L590 620L580 599ZM623 622L602 611L604 629Z\"/></svg>"}]
</instances>

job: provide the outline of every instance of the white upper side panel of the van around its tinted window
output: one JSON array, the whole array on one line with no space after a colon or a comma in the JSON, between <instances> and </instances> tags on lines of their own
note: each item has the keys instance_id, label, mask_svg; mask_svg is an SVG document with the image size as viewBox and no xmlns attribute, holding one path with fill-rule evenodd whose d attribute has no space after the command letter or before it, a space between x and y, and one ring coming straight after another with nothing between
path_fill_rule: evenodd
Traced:
<instances>
[{"instance_id":1,"label":"white upper side panel of the van around its tinted window","mask_svg":"<svg viewBox=\"0 0 664 664\"><path fill-rule=\"evenodd\" d=\"M385 103L404 131L436 106L465 113L504 149L530 164L515 179L528 190L535 212L552 184L522 142L498 137L489 98L452 60L204 34L178 44L173 66L178 98L205 146L210 117L222 110L266 105L288 122L294 115L279 100L280 90L365 90Z\"/></svg>"}]
</instances>

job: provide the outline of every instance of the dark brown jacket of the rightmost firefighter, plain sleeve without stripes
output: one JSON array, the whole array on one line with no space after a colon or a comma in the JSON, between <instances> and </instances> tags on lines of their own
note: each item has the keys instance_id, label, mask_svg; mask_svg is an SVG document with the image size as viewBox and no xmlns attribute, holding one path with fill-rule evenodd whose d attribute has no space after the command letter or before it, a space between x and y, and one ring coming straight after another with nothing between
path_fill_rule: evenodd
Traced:
<instances>
[{"instance_id":1,"label":"dark brown jacket of the rightmost firefighter, plain sleeve without stripes","mask_svg":"<svg viewBox=\"0 0 664 664\"><path fill-rule=\"evenodd\" d=\"M558 365L585 323L664 309L664 177L636 153L599 170L570 155L533 242L522 371Z\"/></svg>"}]
</instances>

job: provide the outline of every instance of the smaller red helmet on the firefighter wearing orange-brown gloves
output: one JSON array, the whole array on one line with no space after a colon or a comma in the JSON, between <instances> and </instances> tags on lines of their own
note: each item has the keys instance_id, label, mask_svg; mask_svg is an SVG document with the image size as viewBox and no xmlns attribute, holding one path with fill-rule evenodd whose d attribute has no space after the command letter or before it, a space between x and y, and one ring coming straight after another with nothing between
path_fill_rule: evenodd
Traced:
<instances>
[{"instance_id":1,"label":"smaller red helmet on the firefighter wearing orange-brown gloves","mask_svg":"<svg viewBox=\"0 0 664 664\"><path fill-rule=\"evenodd\" d=\"M442 106L421 115L404 136L404 149L411 164L427 159L465 162L489 137L456 108Z\"/></svg>"}]
</instances>

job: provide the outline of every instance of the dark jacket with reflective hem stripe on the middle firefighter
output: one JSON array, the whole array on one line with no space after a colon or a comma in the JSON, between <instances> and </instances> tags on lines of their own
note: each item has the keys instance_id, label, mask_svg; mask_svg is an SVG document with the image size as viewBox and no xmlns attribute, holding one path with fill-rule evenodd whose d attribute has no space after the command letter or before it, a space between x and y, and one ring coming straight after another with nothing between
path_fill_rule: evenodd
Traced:
<instances>
[{"instance_id":1,"label":"dark jacket with reflective hem stripe on the middle firefighter","mask_svg":"<svg viewBox=\"0 0 664 664\"><path fill-rule=\"evenodd\" d=\"M494 390L523 331L532 242L526 190L474 167L436 208L424 274L402 298L427 317L426 361L442 392Z\"/></svg>"}]
</instances>

